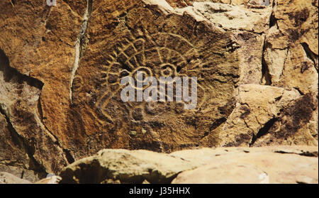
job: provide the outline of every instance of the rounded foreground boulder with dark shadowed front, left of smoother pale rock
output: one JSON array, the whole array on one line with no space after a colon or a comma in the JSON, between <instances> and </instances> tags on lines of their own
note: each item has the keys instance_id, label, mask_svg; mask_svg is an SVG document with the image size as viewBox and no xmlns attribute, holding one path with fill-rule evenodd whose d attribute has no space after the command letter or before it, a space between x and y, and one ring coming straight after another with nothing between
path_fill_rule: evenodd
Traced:
<instances>
[{"instance_id":1,"label":"rounded foreground boulder with dark shadowed front, left of smoother pale rock","mask_svg":"<svg viewBox=\"0 0 319 198\"><path fill-rule=\"evenodd\" d=\"M148 150L104 149L65 167L62 183L169 183L196 167L186 160Z\"/></svg>"}]
</instances>

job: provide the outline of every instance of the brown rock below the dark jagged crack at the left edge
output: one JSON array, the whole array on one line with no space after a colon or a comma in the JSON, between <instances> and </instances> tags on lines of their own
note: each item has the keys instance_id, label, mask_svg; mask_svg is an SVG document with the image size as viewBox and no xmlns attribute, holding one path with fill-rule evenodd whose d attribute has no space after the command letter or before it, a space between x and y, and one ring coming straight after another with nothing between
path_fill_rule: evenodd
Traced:
<instances>
[{"instance_id":1,"label":"brown rock below the dark jagged crack at the left edge","mask_svg":"<svg viewBox=\"0 0 319 198\"><path fill-rule=\"evenodd\" d=\"M0 123L4 128L1 164L39 173L57 171L66 165L62 148L40 120L38 100L42 85L9 67L9 60L0 50Z\"/></svg>"}]
</instances>

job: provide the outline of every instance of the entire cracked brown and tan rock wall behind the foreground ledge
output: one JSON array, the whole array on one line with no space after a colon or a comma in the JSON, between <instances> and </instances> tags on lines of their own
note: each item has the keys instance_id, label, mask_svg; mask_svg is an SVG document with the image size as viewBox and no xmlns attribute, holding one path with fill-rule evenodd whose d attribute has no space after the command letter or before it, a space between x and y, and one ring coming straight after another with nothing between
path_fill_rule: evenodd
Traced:
<instances>
[{"instance_id":1,"label":"entire cracked brown and tan rock wall behind the foreground ledge","mask_svg":"<svg viewBox=\"0 0 319 198\"><path fill-rule=\"evenodd\" d=\"M0 33L0 171L31 182L103 148L318 145L318 0L1 1ZM197 77L196 108L123 102L138 71Z\"/></svg>"}]
</instances>

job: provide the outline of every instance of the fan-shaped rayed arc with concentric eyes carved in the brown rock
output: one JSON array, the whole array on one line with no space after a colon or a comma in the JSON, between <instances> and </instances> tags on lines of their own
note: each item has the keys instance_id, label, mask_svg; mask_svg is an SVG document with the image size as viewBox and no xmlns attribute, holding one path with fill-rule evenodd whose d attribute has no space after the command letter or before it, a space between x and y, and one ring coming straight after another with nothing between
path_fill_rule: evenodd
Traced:
<instances>
[{"instance_id":1,"label":"fan-shaped rayed arc with concentric eyes carved in the brown rock","mask_svg":"<svg viewBox=\"0 0 319 198\"><path fill-rule=\"evenodd\" d=\"M110 115L110 109L107 106L120 95L121 89L123 89L120 82L123 77L130 76L137 81L137 72L142 72L143 79L145 77L155 77L156 79L159 77L172 77L173 79L174 77L186 77L188 72L198 67L200 63L196 48L180 35L156 33L146 35L143 38L125 38L116 46L116 50L109 55L109 60L103 66L101 87L108 87L108 89L101 90L96 108L109 121L112 121L113 115ZM138 89L138 87L135 88ZM200 84L198 84L197 89L199 96L201 96L198 101L199 107L205 91ZM157 104L154 111L158 110L158 105L166 106L167 104ZM128 102L125 106L129 109L142 108L145 114L152 114L152 104Z\"/></svg>"}]
</instances>

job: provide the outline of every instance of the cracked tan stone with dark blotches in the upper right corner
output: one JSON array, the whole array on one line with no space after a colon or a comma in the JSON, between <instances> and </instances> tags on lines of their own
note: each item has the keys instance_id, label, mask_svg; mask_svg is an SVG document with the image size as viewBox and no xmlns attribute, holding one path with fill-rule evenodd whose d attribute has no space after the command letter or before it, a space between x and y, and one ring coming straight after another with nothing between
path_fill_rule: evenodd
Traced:
<instances>
[{"instance_id":1,"label":"cracked tan stone with dark blotches in the upper right corner","mask_svg":"<svg viewBox=\"0 0 319 198\"><path fill-rule=\"evenodd\" d=\"M264 83L318 94L318 7L312 1L279 1L267 34Z\"/></svg>"}]
</instances>

